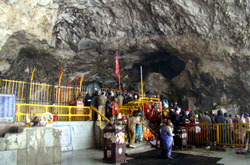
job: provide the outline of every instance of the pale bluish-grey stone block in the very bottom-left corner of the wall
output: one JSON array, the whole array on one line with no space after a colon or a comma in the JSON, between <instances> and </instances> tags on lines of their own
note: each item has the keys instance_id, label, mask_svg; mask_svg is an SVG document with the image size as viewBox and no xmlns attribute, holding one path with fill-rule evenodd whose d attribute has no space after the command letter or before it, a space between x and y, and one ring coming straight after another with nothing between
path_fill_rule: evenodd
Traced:
<instances>
[{"instance_id":1,"label":"pale bluish-grey stone block in the very bottom-left corner of the wall","mask_svg":"<svg viewBox=\"0 0 250 165\"><path fill-rule=\"evenodd\" d=\"M1 165L16 165L17 151L0 151L0 164Z\"/></svg>"}]
</instances>

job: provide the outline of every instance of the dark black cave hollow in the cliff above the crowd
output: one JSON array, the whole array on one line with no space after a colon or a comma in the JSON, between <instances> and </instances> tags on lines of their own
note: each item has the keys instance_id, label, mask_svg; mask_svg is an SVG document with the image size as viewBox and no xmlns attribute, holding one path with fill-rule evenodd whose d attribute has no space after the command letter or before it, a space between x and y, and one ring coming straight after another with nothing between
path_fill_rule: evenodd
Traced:
<instances>
[{"instance_id":1,"label":"dark black cave hollow in the cliff above the crowd","mask_svg":"<svg viewBox=\"0 0 250 165\"><path fill-rule=\"evenodd\" d=\"M142 66L143 79L149 73L156 72L162 74L167 80L171 80L178 76L185 69L186 65L184 61L166 51L144 54L143 57L144 59L141 62L133 66L133 70L135 71L133 74L136 74L134 75L135 77L140 75L140 66Z\"/></svg>"}]
</instances>

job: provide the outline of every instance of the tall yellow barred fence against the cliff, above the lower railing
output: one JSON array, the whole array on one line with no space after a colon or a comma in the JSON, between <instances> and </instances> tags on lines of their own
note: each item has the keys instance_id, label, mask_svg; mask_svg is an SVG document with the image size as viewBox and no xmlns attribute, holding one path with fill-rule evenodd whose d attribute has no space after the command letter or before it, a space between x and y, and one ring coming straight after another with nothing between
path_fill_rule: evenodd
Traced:
<instances>
[{"instance_id":1,"label":"tall yellow barred fence against the cliff, above the lower railing","mask_svg":"<svg viewBox=\"0 0 250 165\"><path fill-rule=\"evenodd\" d=\"M0 93L16 94L16 101L20 103L50 104L53 101L57 104L59 102L59 105L67 105L74 99L74 92L77 97L80 90L80 87L0 80Z\"/></svg>"}]
</instances>

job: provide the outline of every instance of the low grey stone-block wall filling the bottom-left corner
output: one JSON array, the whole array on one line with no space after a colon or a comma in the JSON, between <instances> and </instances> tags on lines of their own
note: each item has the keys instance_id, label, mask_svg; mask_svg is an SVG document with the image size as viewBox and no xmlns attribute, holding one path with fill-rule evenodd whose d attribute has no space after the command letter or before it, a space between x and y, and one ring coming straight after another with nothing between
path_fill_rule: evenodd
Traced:
<instances>
[{"instance_id":1,"label":"low grey stone-block wall filling the bottom-left corner","mask_svg":"<svg viewBox=\"0 0 250 165\"><path fill-rule=\"evenodd\" d=\"M61 131L48 127L24 128L0 138L0 165L61 162Z\"/></svg>"}]
</instances>

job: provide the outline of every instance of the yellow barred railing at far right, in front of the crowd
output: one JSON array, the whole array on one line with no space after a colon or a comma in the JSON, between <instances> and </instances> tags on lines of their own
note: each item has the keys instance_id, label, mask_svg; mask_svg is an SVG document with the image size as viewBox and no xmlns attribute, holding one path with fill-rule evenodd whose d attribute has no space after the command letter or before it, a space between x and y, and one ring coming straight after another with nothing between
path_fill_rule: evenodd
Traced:
<instances>
[{"instance_id":1,"label":"yellow barred railing at far right, in front of the crowd","mask_svg":"<svg viewBox=\"0 0 250 165\"><path fill-rule=\"evenodd\" d=\"M200 123L186 126L187 141L194 145L245 146L249 124Z\"/></svg>"}]
</instances>

